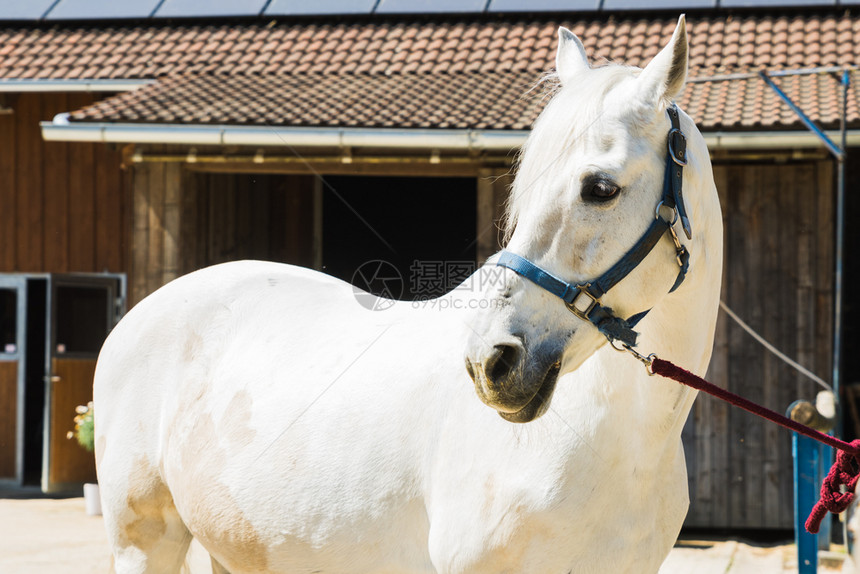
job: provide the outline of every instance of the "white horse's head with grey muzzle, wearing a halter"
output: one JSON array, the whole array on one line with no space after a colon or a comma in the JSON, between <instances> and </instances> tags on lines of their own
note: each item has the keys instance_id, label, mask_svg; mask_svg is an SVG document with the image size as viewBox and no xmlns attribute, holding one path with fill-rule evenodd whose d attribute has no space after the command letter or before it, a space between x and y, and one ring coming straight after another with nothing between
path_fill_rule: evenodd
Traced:
<instances>
[{"instance_id":1,"label":"white horse's head with grey muzzle, wearing a halter","mask_svg":"<svg viewBox=\"0 0 860 574\"><path fill-rule=\"evenodd\" d=\"M679 266L686 272L691 260L695 269L691 227L704 209L696 191L713 182L701 134L672 104L686 80L687 51L683 16L668 45L641 70L592 67L580 40L559 30L560 88L523 147L508 202L509 240L502 255L520 265L493 267L498 280L482 293L493 304L473 318L466 352L478 396L510 421L543 414L558 377L577 369L607 339L635 345L611 329L621 325L632 333L625 321L667 298L677 287ZM686 136L686 154L667 151L677 141L675 127ZM664 210L661 194L671 183L672 157L677 167L686 164L685 197ZM611 289L585 293L595 278L615 273L616 264L629 258L655 217L665 218L668 232L661 231ZM573 287L570 296L583 291L583 297L571 301L568 294L551 292L540 275L561 278L559 290ZM595 305L620 323L604 329L589 309Z\"/></svg>"}]
</instances>

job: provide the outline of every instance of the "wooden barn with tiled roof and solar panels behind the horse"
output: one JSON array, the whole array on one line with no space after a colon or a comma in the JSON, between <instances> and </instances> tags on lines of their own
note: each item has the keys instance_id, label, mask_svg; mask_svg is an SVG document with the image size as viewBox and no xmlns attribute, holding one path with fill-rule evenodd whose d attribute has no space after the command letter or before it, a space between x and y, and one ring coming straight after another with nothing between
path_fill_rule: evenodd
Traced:
<instances>
[{"instance_id":1,"label":"wooden barn with tiled roof and solar panels behind the horse","mask_svg":"<svg viewBox=\"0 0 860 574\"><path fill-rule=\"evenodd\" d=\"M836 164L754 73L813 70L776 81L831 134L849 73L841 378L860 380L860 2L202 4L0 6L0 480L58 491L93 479L65 435L99 345L181 274L259 258L354 281L384 260L411 298L496 251L559 25L593 61L641 66L686 12L679 103L712 154L723 300L826 380ZM817 390L724 314L709 377L778 411ZM791 528L785 431L702 397L684 438L688 526Z\"/></svg>"}]
</instances>

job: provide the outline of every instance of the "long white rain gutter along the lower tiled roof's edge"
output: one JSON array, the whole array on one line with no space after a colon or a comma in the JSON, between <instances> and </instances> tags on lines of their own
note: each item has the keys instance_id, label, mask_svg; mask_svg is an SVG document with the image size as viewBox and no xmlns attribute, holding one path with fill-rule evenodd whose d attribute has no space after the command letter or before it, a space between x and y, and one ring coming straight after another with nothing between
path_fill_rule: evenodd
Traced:
<instances>
[{"instance_id":1,"label":"long white rain gutter along the lower tiled roof's edge","mask_svg":"<svg viewBox=\"0 0 860 574\"><path fill-rule=\"evenodd\" d=\"M526 140L527 130L445 130L388 128L273 127L200 124L69 122L67 114L42 122L46 141L241 145L262 147L391 148L509 151ZM838 131L826 132L833 138ZM808 131L705 132L714 149L819 148ZM860 146L860 130L846 134L848 146Z\"/></svg>"}]
</instances>

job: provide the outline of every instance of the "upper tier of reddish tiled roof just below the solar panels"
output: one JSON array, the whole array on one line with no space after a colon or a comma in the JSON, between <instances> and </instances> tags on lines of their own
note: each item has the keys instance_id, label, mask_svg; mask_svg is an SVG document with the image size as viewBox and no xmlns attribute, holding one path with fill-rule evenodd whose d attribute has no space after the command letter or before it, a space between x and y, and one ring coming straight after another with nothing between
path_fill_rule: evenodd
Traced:
<instances>
[{"instance_id":1,"label":"upper tier of reddish tiled roof just below the solar panels","mask_svg":"<svg viewBox=\"0 0 860 574\"><path fill-rule=\"evenodd\" d=\"M315 21L0 29L0 79L152 78L168 74L544 71L556 30L571 28L592 58L642 65L677 16L532 20ZM690 65L731 71L860 62L860 15L698 15Z\"/></svg>"}]
</instances>

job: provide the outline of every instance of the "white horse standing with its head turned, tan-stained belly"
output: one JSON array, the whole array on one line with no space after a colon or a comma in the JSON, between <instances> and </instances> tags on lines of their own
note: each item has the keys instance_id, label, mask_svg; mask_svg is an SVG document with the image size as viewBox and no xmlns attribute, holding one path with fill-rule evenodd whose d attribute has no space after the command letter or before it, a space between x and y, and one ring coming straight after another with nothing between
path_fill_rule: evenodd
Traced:
<instances>
[{"instance_id":1,"label":"white horse standing with its head turned, tan-stained belly","mask_svg":"<svg viewBox=\"0 0 860 574\"><path fill-rule=\"evenodd\" d=\"M591 68L559 35L562 87L524 148L508 249L579 281L654 220L687 37L682 18L639 70ZM705 143L680 121L687 279L669 293L664 236L602 303L651 309L639 348L701 374L722 228ZM288 265L180 278L132 309L99 358L116 571L176 572L194 537L234 574L655 572L688 506L680 436L695 394L605 343L503 267L424 308L376 312Z\"/></svg>"}]
</instances>

